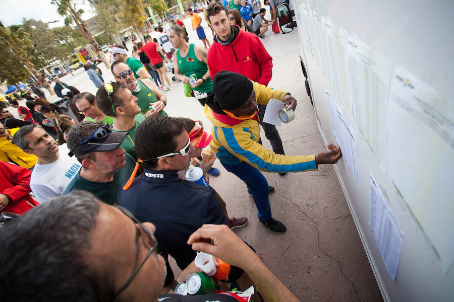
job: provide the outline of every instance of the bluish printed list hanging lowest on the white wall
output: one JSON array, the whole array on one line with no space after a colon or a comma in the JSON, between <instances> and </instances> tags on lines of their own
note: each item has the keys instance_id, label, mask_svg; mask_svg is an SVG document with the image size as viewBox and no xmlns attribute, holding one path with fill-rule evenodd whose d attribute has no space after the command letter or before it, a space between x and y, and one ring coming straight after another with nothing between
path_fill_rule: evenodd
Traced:
<instances>
[{"instance_id":1,"label":"bluish printed list hanging lowest on the white wall","mask_svg":"<svg viewBox=\"0 0 454 302\"><path fill-rule=\"evenodd\" d=\"M369 226L386 270L392 280L395 280L401 256L402 231L372 174L370 174Z\"/></svg>"}]
</instances>

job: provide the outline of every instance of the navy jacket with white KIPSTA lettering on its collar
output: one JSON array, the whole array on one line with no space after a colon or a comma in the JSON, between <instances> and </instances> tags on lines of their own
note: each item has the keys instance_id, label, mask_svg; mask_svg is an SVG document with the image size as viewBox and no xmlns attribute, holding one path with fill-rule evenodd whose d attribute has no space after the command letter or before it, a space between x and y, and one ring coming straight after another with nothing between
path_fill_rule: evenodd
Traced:
<instances>
[{"instance_id":1,"label":"navy jacket with white KIPSTA lettering on its collar","mask_svg":"<svg viewBox=\"0 0 454 302\"><path fill-rule=\"evenodd\" d=\"M153 223L159 250L184 269L196 256L186 244L189 236L203 224L228 224L228 220L211 187L179 179L177 172L144 169L128 190L119 190L118 204L139 221Z\"/></svg>"}]
</instances>

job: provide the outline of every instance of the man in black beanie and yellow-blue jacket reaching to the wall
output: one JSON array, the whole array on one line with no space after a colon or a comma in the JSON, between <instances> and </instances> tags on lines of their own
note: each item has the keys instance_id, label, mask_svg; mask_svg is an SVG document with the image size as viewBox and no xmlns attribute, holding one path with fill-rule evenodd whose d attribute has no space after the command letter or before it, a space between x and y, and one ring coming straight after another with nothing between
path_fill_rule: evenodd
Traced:
<instances>
[{"instance_id":1,"label":"man in black beanie and yellow-blue jacket reaching to the wall","mask_svg":"<svg viewBox=\"0 0 454 302\"><path fill-rule=\"evenodd\" d=\"M301 172L317 170L320 164L335 164L341 149L329 144L330 151L310 156L284 156L265 149L260 139L257 103L267 104L275 98L296 107L290 93L251 82L244 75L219 71L213 81L214 98L207 100L205 115L213 123L211 150L222 166L243 180L258 209L261 224L272 232L283 233L286 226L271 216L269 186L260 171ZM259 171L260 170L260 171Z\"/></svg>"}]
</instances>

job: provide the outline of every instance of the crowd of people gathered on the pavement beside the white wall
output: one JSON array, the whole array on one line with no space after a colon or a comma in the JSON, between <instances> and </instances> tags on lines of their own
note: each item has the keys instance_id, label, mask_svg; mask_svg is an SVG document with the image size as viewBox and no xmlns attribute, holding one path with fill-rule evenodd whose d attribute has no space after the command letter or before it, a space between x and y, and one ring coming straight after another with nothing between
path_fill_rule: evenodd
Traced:
<instances>
[{"instance_id":1,"label":"crowd of people gathered on the pavement beside the white wall","mask_svg":"<svg viewBox=\"0 0 454 302\"><path fill-rule=\"evenodd\" d=\"M0 211L20 215L0 229L0 246L6 247L0 252L0 292L6 300L242 301L225 293L174 294L199 271L194 258L202 251L231 264L226 291L254 285L258 293L251 301L298 301L260 253L231 231L248 219L228 213L229 196L209 185L209 175L219 175L212 167L219 160L246 184L259 222L283 233L287 228L269 203L274 188L261 171L284 177L316 170L335 164L342 153L329 144L317 155L285 155L275 126L262 119L271 98L288 109L297 100L268 87L272 57L258 36L266 22L260 7L254 2L241 10L244 0L231 4L247 15L246 27L254 27L254 14L260 16L259 32L233 24L229 10L213 2L206 9L215 33L211 44L199 34L201 17L189 12L206 48L188 42L186 29L174 24L167 33L158 28L157 43L149 36L137 43L139 59L114 45L115 81L100 80L96 95L55 77L54 91L69 98L77 121L44 98L27 101L28 108L11 101L21 119L0 106ZM171 88L162 68L166 60L174 61L176 79L204 106L200 114L211 129L164 111L160 88ZM260 126L272 150L261 144ZM207 185L186 179L191 167L202 170ZM178 276L169 256L182 270Z\"/></svg>"}]
</instances>

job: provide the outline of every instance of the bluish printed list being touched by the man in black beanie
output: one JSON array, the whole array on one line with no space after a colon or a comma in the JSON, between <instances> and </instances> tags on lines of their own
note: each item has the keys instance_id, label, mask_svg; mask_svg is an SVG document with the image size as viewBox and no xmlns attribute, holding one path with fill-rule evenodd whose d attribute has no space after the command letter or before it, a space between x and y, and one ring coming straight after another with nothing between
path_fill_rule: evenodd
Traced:
<instances>
[{"instance_id":1,"label":"bluish printed list being touched by the man in black beanie","mask_svg":"<svg viewBox=\"0 0 454 302\"><path fill-rule=\"evenodd\" d=\"M329 112L331 115L331 125L334 138L341 146L342 157L353 174L356 185L358 181L358 166L356 161L355 135L352 127L342 115L341 109L331 99L329 93L325 90L326 101L328 102Z\"/></svg>"}]
</instances>

